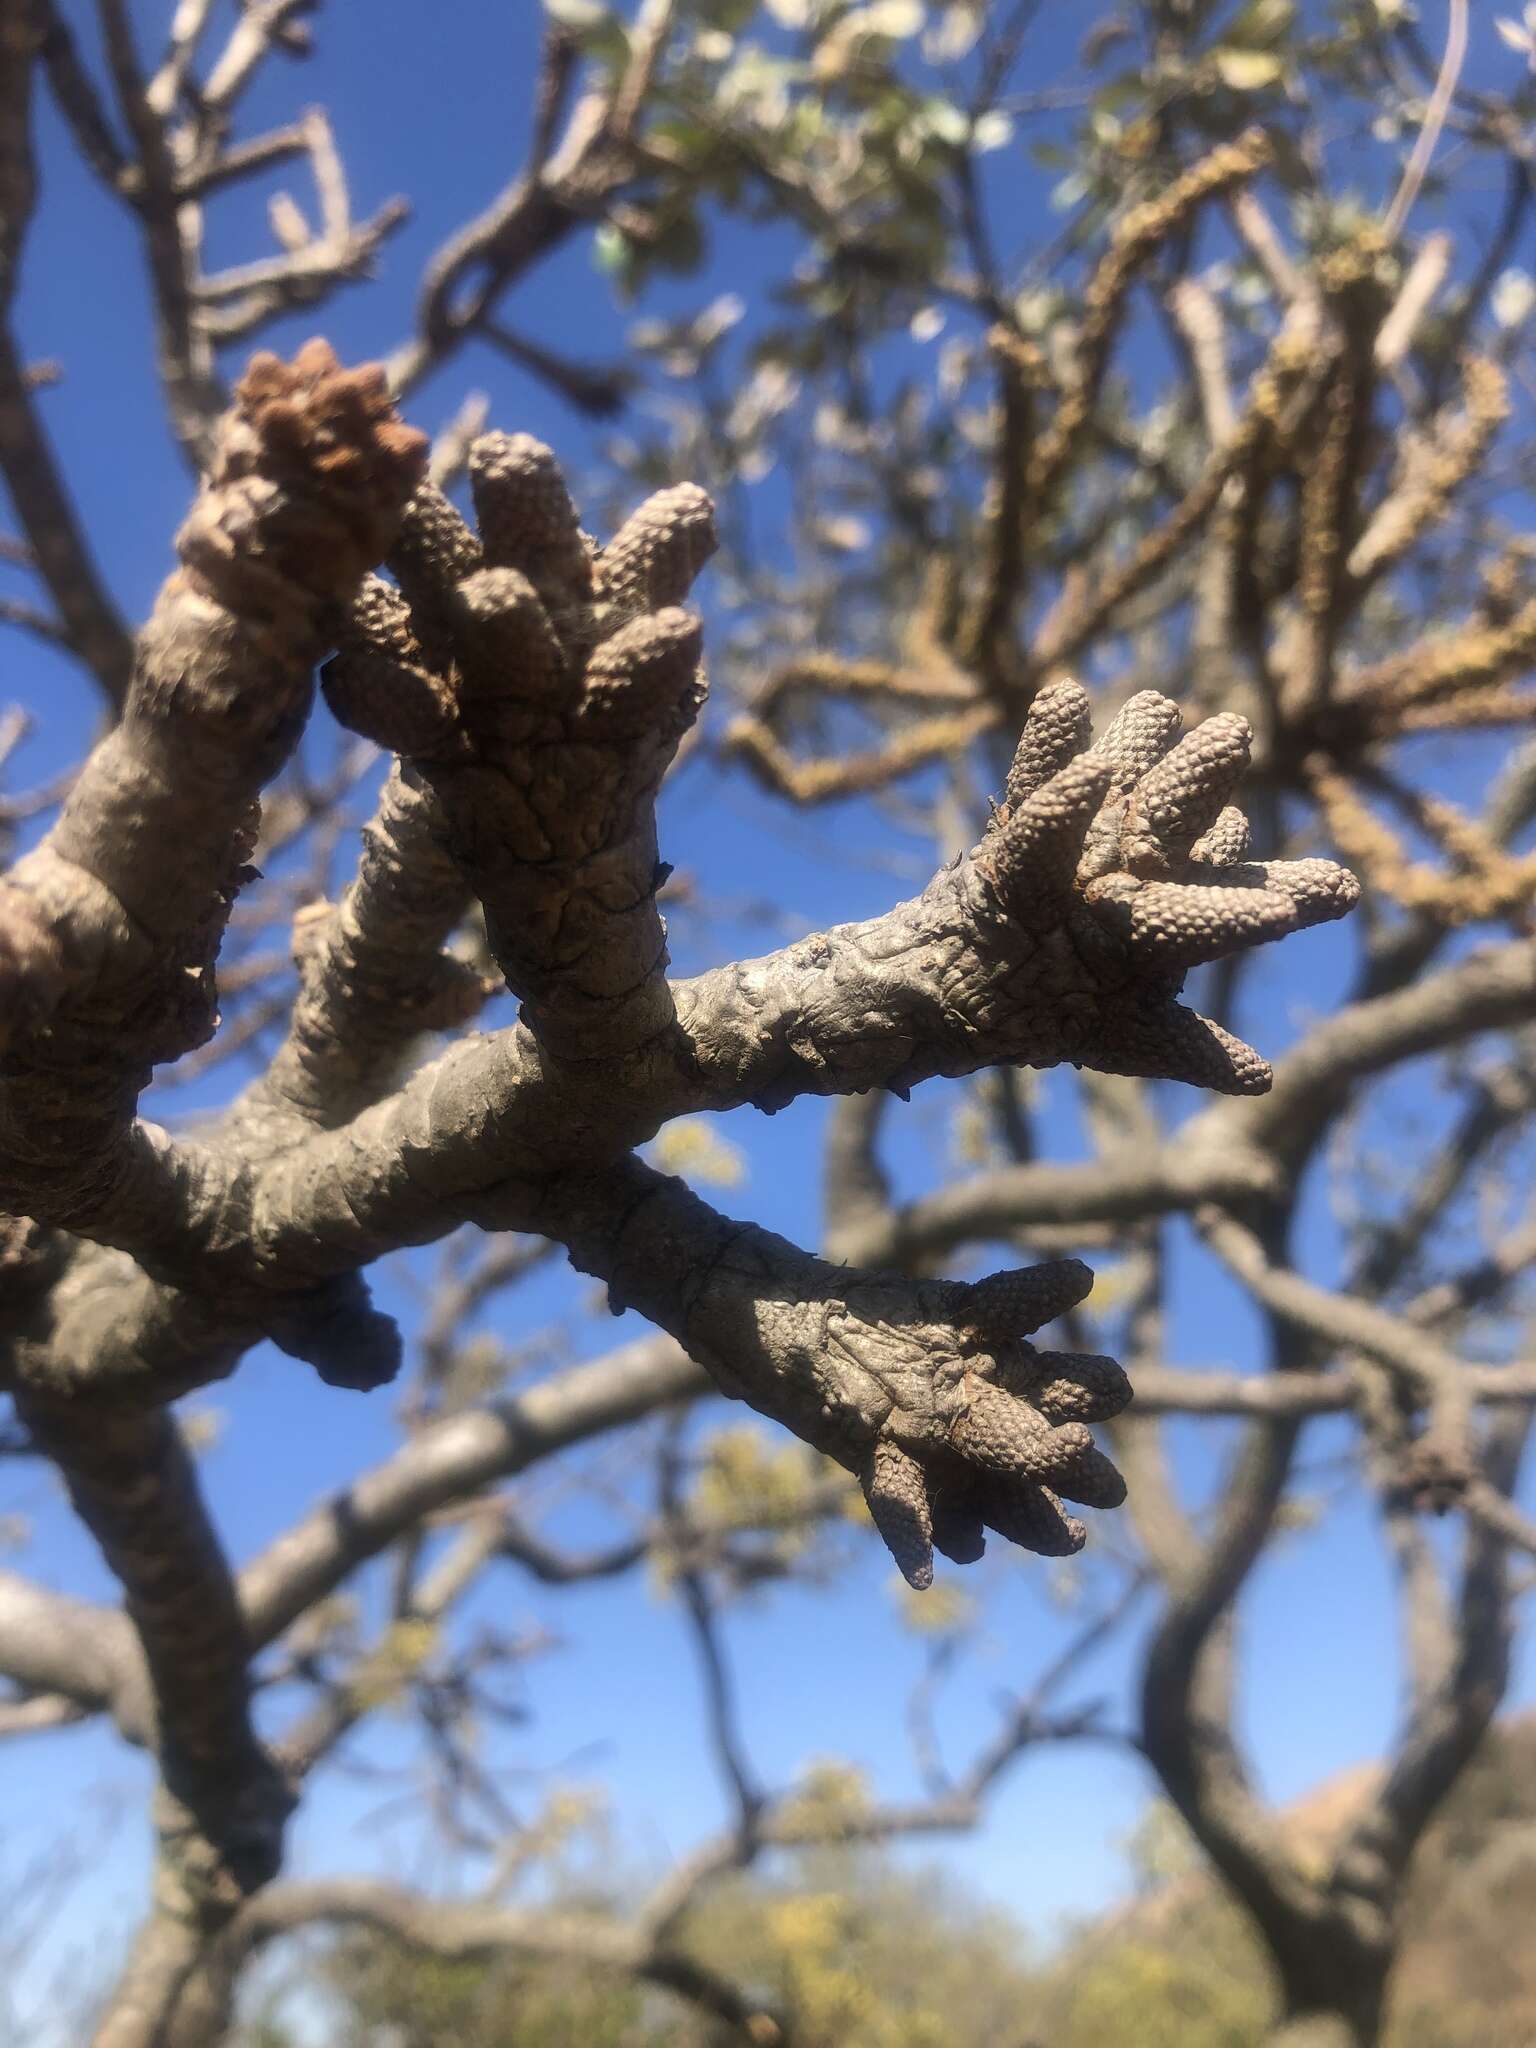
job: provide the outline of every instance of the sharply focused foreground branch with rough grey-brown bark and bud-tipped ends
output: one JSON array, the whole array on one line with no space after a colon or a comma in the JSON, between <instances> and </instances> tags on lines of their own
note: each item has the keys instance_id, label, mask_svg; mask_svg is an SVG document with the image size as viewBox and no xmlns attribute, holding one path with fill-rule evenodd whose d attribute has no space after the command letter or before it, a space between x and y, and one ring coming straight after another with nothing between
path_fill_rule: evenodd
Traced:
<instances>
[{"instance_id":1,"label":"sharply focused foreground branch with rough grey-brown bark and bud-tipped ends","mask_svg":"<svg viewBox=\"0 0 1536 2048\"><path fill-rule=\"evenodd\" d=\"M279 1868L291 1790L252 1733L254 1647L399 1526L381 1481L340 1550L305 1563L297 1532L242 1589L168 1399L260 1335L377 1384L397 1337L362 1268L473 1219L563 1243L725 1393L852 1470L913 1585L934 1546L975 1559L983 1526L1075 1550L1063 1499L1122 1499L1090 1425L1130 1384L1026 1337L1081 1300L1083 1266L971 1286L827 1266L631 1151L684 1112L997 1061L1262 1092L1264 1061L1178 1004L1184 975L1354 901L1329 862L1245 858L1241 719L1180 737L1176 707L1143 692L1090 743L1087 698L1061 682L983 840L920 897L674 985L655 795L705 694L682 598L713 549L709 500L664 492L598 547L526 436L473 444L477 532L420 469L377 373L319 344L258 358L123 721L0 885L0 1198L27 1219L6 1237L4 1374L137 1636L109 1632L106 1669L76 1671L72 1698L117 1712L164 1778L156 1915L100 2034L113 2048L164 2038L207 1944ZM393 582L371 573L381 557ZM352 889L301 920L283 1049L217 1130L178 1141L137 1120L137 1096L215 1028L258 793L328 645L332 709L401 762ZM469 901L522 1018L401 1079L422 1032L485 993L444 952ZM655 1370L694 1384L676 1354ZM639 1380L596 1413L639 1413L659 1384ZM485 1468L514 1468L516 1446ZM438 1485L420 1456L412 1473L408 1520ZM440 1485L465 1485L461 1458Z\"/></svg>"}]
</instances>

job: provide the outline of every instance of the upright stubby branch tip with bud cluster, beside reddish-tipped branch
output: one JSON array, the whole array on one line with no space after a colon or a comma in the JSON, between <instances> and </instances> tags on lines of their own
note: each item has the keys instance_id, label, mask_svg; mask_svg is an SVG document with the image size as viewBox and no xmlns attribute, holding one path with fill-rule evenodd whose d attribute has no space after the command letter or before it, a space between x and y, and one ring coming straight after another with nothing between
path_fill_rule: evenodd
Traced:
<instances>
[{"instance_id":1,"label":"upright stubby branch tip with bud cluster, beside reddish-tipped branch","mask_svg":"<svg viewBox=\"0 0 1536 2048\"><path fill-rule=\"evenodd\" d=\"M625 1055L670 1016L655 793L705 700L680 600L713 506L657 492L598 547L528 434L475 440L469 485L477 530L432 485L406 506L395 582L362 582L326 698L430 786L539 1038Z\"/></svg>"}]
</instances>

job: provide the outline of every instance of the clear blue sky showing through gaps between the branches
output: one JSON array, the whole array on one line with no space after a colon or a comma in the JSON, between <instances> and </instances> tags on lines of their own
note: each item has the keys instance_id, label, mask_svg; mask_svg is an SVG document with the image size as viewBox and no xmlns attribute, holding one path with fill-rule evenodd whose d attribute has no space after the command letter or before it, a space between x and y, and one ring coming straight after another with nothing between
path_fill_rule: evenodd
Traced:
<instances>
[{"instance_id":1,"label":"clear blue sky showing through gaps between the branches","mask_svg":"<svg viewBox=\"0 0 1536 2048\"><path fill-rule=\"evenodd\" d=\"M74 0L66 12L92 49L90 10ZM154 47L162 6L143 0L135 12ZM1075 8L1042 12L1030 70L1055 78L1071 63L1085 16ZM322 98L338 129L356 213L393 193L410 195L414 207L387 244L375 283L344 293L317 317L287 322L264 338L270 346L289 346L319 328L342 356L360 358L385 352L408 332L424 260L506 182L522 156L537 29L539 8L530 0L512 6L459 0L453 8L375 0L319 14L311 66L268 68L250 94L242 133L293 119L307 100ZM1475 68L1501 61L1487 41L1475 51ZM39 143L43 199L25 266L20 334L31 356L57 358L63 369L63 381L41 399L45 420L106 580L125 612L141 616L170 565L170 541L188 496L154 381L141 256L127 221L66 145L47 96L39 104ZM1004 201L999 219L1016 225L1024 244L1042 231L1049 178L1022 152L1001 156L1006 162L989 168L993 197ZM1477 190L1460 201L1473 248L1493 201L1489 193L1483 203ZM213 207L211 260L246 260L266 246L262 205L264 195ZM1434 209L1425 225L1432 221ZM717 236L702 276L672 281L625 311L612 305L588 246L575 242L537 272L506 313L532 340L604 358L623 350L625 328L639 313L680 313L719 291L737 291L752 309L745 330L752 332L764 311L764 276L782 270L786 250L782 236L731 227ZM915 344L905 356L897 369L926 367ZM412 401L414 420L438 428L469 389L489 395L496 424L551 440L573 473L600 467L604 430L483 350L430 379ZM754 526L772 532L776 518L782 498L770 477L758 492ZM39 719L20 764L27 778L41 780L76 760L94 729L90 688L68 664L18 635L0 637L0 702L8 700L20 700ZM866 811L791 815L711 756L700 756L668 797L664 854L727 903L772 899L791 928L879 911L920 885L932 864L920 842L870 823ZM674 954L688 971L731 952L764 950L778 936L727 909L709 926L680 922ZM1335 999L1346 963L1348 938L1337 932L1307 934L1280 948L1255 977L1251 997L1251 1028L1266 1053L1280 1051L1309 1014ZM1409 1077L1393 1094L1378 1118L1384 1137L1397 1116L1436 1116L1425 1079L1425 1073ZM1190 1092L1180 1094L1180 1112L1198 1106ZM1081 1137L1059 1081L1047 1081L1044 1102L1049 1147L1057 1155L1079 1151ZM954 1090L944 1085L895 1108L889 1163L901 1192L932 1186L946 1171L952 1108ZM750 1180L725 1196L727 1206L791 1237L813 1235L821 1116L819 1104L797 1104L772 1120L745 1110L721 1118L723 1133L750 1157ZM1323 1200L1313 1200L1303 1239L1323 1278L1335 1270L1335 1237ZM430 1272L420 1257L401 1266ZM1174 1272L1169 1360L1212 1368L1249 1362L1251 1311L1182 1229L1176 1229ZM381 1296L408 1309L401 1272L381 1278ZM559 1325L582 1356L631 1333L633 1319L588 1321L586 1300L584 1284L549 1270L494 1323L508 1339ZM332 1393L291 1360L266 1352L195 1405L225 1419L207 1456L207 1481L236 1559L274 1536L317 1491L344 1483L397 1442L389 1395L365 1401ZM739 1421L741 1411L721 1411L719 1419ZM1210 1442L1210 1430L1176 1432L1180 1470L1194 1487L1208 1483ZM1307 1466L1319 1470L1321 1489L1333 1485L1325 1466L1343 1442L1333 1425L1309 1438ZM102 1569L61 1511L51 1479L41 1470L0 1468L0 1511L20 1511L35 1524L20 1563L49 1583L106 1597ZM559 1528L590 1534L598 1511L565 1505ZM975 1581L985 1591L985 1628L942 1710L958 1761L991 1731L995 1696L1026 1686L1065 1626L1049 1595L1047 1567L1010 1554L989 1559ZM1397 1657L1386 1595L1380 1546L1358 1501L1286 1538L1255 1573L1243 1612L1243 1726L1276 1798L1296 1796L1389 1741ZM504 1573L475 1595L471 1618L483 1616L496 1616L508 1630L547 1626L563 1638L561 1649L526 1673L528 1726L504 1739L514 1800L528 1796L530 1780L522 1776L528 1769L598 1780L612 1798L623 1851L637 1866L664 1862L719 1819L719 1788L700 1763L692 1659L670 1604L631 1581L549 1593ZM903 1706L922 1645L897 1622L891 1573L872 1544L854 1554L831 1587L776 1593L743 1610L731 1620L729 1640L766 1782L784 1782L807 1759L844 1755L864 1763L881 1792L915 1790ZM1118 1647L1083 1673L1081 1690L1122 1698L1128 1671L1128 1649ZM1530 1698L1532 1690L1526 1659L1518 1698ZM367 1747L379 1761L397 1761L401 1733L385 1726ZM68 1825L82 1786L133 1788L111 1853L96 1860L82 1896L92 1925L88 1946L111 1942L141 1898L139 1761L125 1759L98 1731L12 1745L6 1761L12 1792L0 1876L23 1868L41 1841ZM1120 1886L1120 1839L1147 1792L1143 1774L1116 1751L1047 1751L1014 1774L975 1837L950 1847L926 1843L922 1853L942 1858L946 1870L1049 1935L1059 1915L1090 1911ZM379 1796L373 1784L317 1788L297 1823L295 1870L412 1864L420 1853L416 1835L365 1825Z\"/></svg>"}]
</instances>

